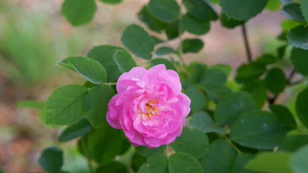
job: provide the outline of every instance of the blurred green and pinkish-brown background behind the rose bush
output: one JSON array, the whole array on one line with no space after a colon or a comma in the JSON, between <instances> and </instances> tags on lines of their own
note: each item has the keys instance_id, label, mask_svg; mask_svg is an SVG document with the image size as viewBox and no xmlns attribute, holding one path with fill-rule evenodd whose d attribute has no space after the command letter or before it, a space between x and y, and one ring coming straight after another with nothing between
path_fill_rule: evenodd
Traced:
<instances>
[{"instance_id":1,"label":"blurred green and pinkish-brown background behind the rose bush","mask_svg":"<svg viewBox=\"0 0 308 173\"><path fill-rule=\"evenodd\" d=\"M37 110L25 108L40 108L42 104L21 101L45 101L56 87L82 84L84 80L79 75L55 63L69 56L86 56L97 45L123 47L120 37L127 25L138 23L145 27L138 21L137 13L147 2L123 0L116 6L96 3L94 20L74 28L61 14L62 0L0 0L0 168L3 171L43 172L37 163L40 152L57 144L65 148L63 170L86 172L87 163L78 155L74 141L58 143L62 128L45 126ZM264 10L247 23L254 58L264 53L277 54L281 43L276 37L284 19L280 8ZM189 34L183 37L194 38ZM218 20L211 23L210 32L201 38L205 42L203 50L186 54L185 62L200 61L209 66L226 63L233 67L233 75L246 62L241 28L222 28ZM177 40L171 41L171 45L177 47ZM136 61L142 63L138 58ZM293 100L287 99L292 92L286 90L278 102L292 104Z\"/></svg>"}]
</instances>

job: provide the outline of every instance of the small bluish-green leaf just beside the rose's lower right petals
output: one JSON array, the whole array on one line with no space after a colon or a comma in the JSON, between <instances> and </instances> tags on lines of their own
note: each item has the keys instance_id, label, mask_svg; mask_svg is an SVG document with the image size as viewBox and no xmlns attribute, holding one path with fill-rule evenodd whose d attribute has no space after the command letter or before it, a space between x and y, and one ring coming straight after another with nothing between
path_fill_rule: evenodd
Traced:
<instances>
[{"instance_id":1,"label":"small bluish-green leaf just beside the rose's lower right petals","mask_svg":"<svg viewBox=\"0 0 308 173\"><path fill-rule=\"evenodd\" d=\"M224 129L222 127L217 127L214 124L214 121L211 116L205 111L200 111L192 114L189 120L189 124L192 128L199 129L204 133L224 133Z\"/></svg>"}]
</instances>

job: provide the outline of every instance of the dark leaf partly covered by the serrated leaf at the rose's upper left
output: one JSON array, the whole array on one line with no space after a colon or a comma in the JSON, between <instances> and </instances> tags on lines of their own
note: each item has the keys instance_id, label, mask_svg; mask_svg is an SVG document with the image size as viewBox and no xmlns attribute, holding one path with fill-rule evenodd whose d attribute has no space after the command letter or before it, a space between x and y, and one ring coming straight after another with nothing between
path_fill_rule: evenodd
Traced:
<instances>
[{"instance_id":1,"label":"dark leaf partly covered by the serrated leaf at the rose's upper left","mask_svg":"<svg viewBox=\"0 0 308 173\"><path fill-rule=\"evenodd\" d=\"M96 46L89 53L88 57L98 61L107 72L107 82L114 82L118 80L121 71L118 69L118 65L113 58L113 55L117 50L123 50L116 46Z\"/></svg>"}]
</instances>

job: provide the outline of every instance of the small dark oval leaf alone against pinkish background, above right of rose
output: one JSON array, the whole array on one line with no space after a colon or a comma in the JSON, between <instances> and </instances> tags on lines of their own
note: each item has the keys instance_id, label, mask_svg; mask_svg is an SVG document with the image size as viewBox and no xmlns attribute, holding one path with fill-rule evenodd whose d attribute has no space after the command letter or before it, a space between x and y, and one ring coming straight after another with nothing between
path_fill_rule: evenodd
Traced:
<instances>
[{"instance_id":1,"label":"small dark oval leaf alone against pinkish background, above right of rose","mask_svg":"<svg viewBox=\"0 0 308 173\"><path fill-rule=\"evenodd\" d=\"M197 53L203 48L203 41L200 39L185 39L182 42L183 53Z\"/></svg>"}]
</instances>

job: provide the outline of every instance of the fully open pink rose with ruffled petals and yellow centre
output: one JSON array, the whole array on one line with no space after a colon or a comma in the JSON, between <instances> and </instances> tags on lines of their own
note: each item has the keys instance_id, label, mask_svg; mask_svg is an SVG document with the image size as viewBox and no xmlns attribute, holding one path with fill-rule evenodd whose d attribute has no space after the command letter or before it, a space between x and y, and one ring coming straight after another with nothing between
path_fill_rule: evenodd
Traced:
<instances>
[{"instance_id":1,"label":"fully open pink rose with ruffled petals and yellow centre","mask_svg":"<svg viewBox=\"0 0 308 173\"><path fill-rule=\"evenodd\" d=\"M190 99L181 90L177 72L163 64L149 70L134 67L120 76L107 121L123 129L134 146L170 144L181 135L190 112Z\"/></svg>"}]
</instances>

